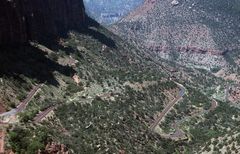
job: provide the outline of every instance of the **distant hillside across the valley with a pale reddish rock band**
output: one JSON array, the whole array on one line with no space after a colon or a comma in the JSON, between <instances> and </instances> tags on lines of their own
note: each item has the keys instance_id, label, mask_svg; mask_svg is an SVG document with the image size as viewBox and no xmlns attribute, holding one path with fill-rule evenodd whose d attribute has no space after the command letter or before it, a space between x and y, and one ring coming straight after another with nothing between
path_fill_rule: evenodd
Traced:
<instances>
[{"instance_id":1,"label":"distant hillside across the valley with a pale reddish rock band","mask_svg":"<svg viewBox=\"0 0 240 154\"><path fill-rule=\"evenodd\" d=\"M165 59L236 71L226 57L239 52L239 8L237 0L146 1L112 30Z\"/></svg>"}]
</instances>

